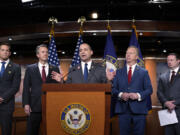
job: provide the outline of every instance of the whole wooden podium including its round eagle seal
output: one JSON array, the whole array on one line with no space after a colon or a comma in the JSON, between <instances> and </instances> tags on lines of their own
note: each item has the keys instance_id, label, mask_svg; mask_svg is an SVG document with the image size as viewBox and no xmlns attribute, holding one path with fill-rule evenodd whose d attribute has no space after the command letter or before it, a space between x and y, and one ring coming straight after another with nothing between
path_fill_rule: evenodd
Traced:
<instances>
[{"instance_id":1,"label":"whole wooden podium including its round eagle seal","mask_svg":"<svg viewBox=\"0 0 180 135\"><path fill-rule=\"evenodd\" d=\"M43 135L110 134L111 84L43 84L42 92Z\"/></svg>"}]
</instances>

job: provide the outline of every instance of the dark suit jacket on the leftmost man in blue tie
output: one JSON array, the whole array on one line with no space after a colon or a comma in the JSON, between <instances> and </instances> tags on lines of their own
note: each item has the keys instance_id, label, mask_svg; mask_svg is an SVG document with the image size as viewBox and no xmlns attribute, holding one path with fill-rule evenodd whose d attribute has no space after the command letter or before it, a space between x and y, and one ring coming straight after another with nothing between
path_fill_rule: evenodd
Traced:
<instances>
[{"instance_id":1,"label":"dark suit jacket on the leftmost man in blue tie","mask_svg":"<svg viewBox=\"0 0 180 135\"><path fill-rule=\"evenodd\" d=\"M0 110L14 111L14 96L19 90L21 81L21 68L9 61L3 76L0 77L0 97L4 99L0 104Z\"/></svg>"}]
</instances>

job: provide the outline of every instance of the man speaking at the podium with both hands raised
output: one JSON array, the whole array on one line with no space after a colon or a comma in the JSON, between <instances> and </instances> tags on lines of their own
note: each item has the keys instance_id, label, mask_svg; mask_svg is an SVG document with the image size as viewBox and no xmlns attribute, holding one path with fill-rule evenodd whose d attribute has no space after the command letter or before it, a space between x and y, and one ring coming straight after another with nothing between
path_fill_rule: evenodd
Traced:
<instances>
[{"instance_id":1,"label":"man speaking at the podium with both hands raised","mask_svg":"<svg viewBox=\"0 0 180 135\"><path fill-rule=\"evenodd\" d=\"M109 72L99 63L92 61L93 51L87 43L79 47L81 63L70 68L66 83L107 83L114 77L114 72ZM62 75L53 72L52 78L61 81Z\"/></svg>"}]
</instances>

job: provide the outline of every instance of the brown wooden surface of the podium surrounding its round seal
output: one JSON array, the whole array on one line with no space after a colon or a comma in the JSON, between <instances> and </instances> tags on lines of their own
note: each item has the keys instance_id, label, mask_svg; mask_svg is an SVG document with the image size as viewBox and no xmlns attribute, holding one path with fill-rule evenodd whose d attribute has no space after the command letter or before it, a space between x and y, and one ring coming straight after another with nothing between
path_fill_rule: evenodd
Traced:
<instances>
[{"instance_id":1,"label":"brown wooden surface of the podium surrounding its round seal","mask_svg":"<svg viewBox=\"0 0 180 135\"><path fill-rule=\"evenodd\" d=\"M69 104L84 105L91 123L83 135L110 134L110 84L43 84L43 135L68 135L61 125L61 114Z\"/></svg>"}]
</instances>

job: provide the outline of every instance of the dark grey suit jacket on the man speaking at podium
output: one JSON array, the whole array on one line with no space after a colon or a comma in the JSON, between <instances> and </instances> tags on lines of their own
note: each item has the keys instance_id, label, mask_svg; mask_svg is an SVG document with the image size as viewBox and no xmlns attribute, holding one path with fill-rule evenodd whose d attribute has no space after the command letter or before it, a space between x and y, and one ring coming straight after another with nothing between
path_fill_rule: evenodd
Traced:
<instances>
[{"instance_id":1,"label":"dark grey suit jacket on the man speaking at podium","mask_svg":"<svg viewBox=\"0 0 180 135\"><path fill-rule=\"evenodd\" d=\"M69 70L66 83L106 83L105 67L99 63L92 62L91 68L88 73L88 82L84 81L81 64L76 65Z\"/></svg>"}]
</instances>

